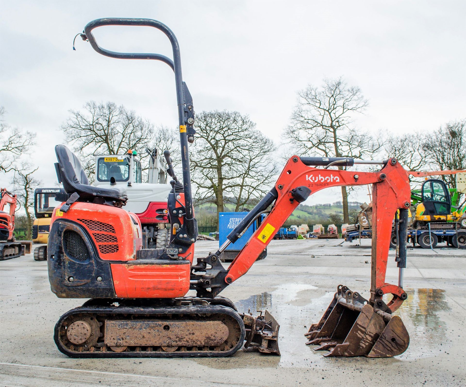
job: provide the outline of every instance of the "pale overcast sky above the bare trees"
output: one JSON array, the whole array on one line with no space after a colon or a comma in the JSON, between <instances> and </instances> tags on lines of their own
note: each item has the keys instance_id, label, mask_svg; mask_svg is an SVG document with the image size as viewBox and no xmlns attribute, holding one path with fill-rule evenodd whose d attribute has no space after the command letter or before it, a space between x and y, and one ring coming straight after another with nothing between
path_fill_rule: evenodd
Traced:
<instances>
[{"instance_id":1,"label":"pale overcast sky above the bare trees","mask_svg":"<svg viewBox=\"0 0 466 387\"><path fill-rule=\"evenodd\" d=\"M296 91L343 76L370 106L365 130L432 131L466 117L464 1L5 1L0 0L0 105L8 124L37 132L32 162L55 186L54 146L69 109L113 101L152 123L178 124L174 77L162 62L98 55L73 37L101 17L142 17L170 27L196 111L249 114L282 142ZM104 48L171 56L151 28L95 30ZM0 176L0 186L9 186ZM340 200L340 190L308 204ZM366 192L350 200L367 200Z\"/></svg>"}]
</instances>

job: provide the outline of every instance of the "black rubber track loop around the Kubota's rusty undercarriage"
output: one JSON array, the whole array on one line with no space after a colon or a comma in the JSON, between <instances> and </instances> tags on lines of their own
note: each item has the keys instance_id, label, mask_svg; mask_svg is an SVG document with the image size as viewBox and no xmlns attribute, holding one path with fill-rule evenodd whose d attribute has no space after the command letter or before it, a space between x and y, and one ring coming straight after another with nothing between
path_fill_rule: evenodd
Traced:
<instances>
[{"instance_id":1,"label":"black rubber track loop around the Kubota's rusty undercarriage","mask_svg":"<svg viewBox=\"0 0 466 387\"><path fill-rule=\"evenodd\" d=\"M111 350L100 352L99 348L96 348L95 352L90 351L82 351L82 352L73 352L67 349L59 339L59 332L62 322L73 314L82 314L86 313L96 317L100 322L103 322L103 315L111 316L111 318L121 318L128 320L131 319L132 315L137 314L138 319L141 319L143 315L151 316L151 315L160 315L160 314L225 314L230 316L235 320L240 328L240 339L236 343L233 348L228 351L175 351L175 352L148 352L148 351L128 351L128 352L113 352ZM160 318L163 318L161 316ZM60 350L60 352L64 353L65 355L71 358L187 358L187 357L225 357L230 356L236 351L238 351L244 342L244 337L246 334L246 330L244 327L244 323L238 312L234 311L231 308L222 306L222 305L192 305L192 306L169 306L169 307L160 307L160 308L152 308L152 307L137 307L137 306L111 306L111 307L99 307L99 306L80 306L75 309L72 309L65 314L58 320L55 325L55 333L54 333L54 340L55 344Z\"/></svg>"}]
</instances>

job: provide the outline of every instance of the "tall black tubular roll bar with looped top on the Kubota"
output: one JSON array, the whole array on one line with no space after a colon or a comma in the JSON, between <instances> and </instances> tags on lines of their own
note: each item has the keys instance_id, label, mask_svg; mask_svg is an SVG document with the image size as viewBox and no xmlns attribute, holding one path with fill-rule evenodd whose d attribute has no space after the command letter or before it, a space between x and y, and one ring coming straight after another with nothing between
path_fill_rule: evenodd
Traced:
<instances>
[{"instance_id":1,"label":"tall black tubular roll bar with looped top on the Kubota","mask_svg":"<svg viewBox=\"0 0 466 387\"><path fill-rule=\"evenodd\" d=\"M162 31L170 40L171 48L173 51L173 60L165 55L153 54L153 53L124 53L110 51L100 47L96 38L92 34L92 30L97 27L103 26L143 26L153 27ZM186 232L190 238L197 236L197 226L194 219L194 211L192 208L192 191L191 191L191 174L189 171L189 151L188 151L188 140L192 142L194 140L194 109L192 106L192 97L183 82L183 76L181 74L181 56L179 51L178 40L171 31L170 28L165 26L163 23L152 19L127 19L127 18L103 18L90 21L86 27L84 27L83 34L81 34L83 40L88 40L92 48L99 54L109 56L110 58L117 59L151 59L161 61L168 64L175 73L175 87L176 97L178 104L178 121L180 129L180 145L181 145L181 163L183 167L183 188L185 192L185 224Z\"/></svg>"}]
</instances>

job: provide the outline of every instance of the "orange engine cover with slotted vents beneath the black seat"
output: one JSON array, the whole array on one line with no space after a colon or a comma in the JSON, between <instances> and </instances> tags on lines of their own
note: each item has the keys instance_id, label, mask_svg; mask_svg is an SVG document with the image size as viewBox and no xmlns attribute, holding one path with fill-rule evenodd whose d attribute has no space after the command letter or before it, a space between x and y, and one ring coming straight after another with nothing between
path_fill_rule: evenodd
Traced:
<instances>
[{"instance_id":1,"label":"orange engine cover with slotted vents beneath the black seat","mask_svg":"<svg viewBox=\"0 0 466 387\"><path fill-rule=\"evenodd\" d=\"M123 208L79 201L71 204L67 212L60 211L60 207L55 208L51 223L63 219L85 228L101 259L124 262L136 259L136 251L142 248L141 223L136 214Z\"/></svg>"}]
</instances>

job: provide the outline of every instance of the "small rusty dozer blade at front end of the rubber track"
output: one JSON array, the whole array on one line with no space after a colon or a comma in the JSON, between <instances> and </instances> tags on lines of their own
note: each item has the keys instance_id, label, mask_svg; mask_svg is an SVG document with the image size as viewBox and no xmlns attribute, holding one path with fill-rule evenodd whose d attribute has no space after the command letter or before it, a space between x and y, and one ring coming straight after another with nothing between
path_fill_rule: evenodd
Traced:
<instances>
[{"instance_id":1,"label":"small rusty dozer blade at front end of the rubber track","mask_svg":"<svg viewBox=\"0 0 466 387\"><path fill-rule=\"evenodd\" d=\"M254 348L262 353L275 353L280 356L280 349L278 348L280 325L269 311L266 310L263 316L260 311L257 318L248 314L243 314L242 317L246 328L244 347Z\"/></svg>"}]
</instances>

